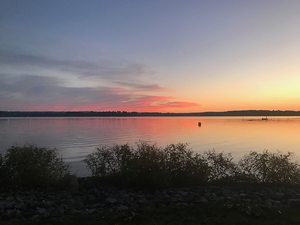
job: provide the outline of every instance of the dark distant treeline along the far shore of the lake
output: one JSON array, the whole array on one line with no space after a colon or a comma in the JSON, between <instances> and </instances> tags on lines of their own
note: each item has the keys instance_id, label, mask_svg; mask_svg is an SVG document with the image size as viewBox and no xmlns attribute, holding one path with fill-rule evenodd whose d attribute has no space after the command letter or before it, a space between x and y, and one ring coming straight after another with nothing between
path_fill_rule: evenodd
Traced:
<instances>
[{"instance_id":1,"label":"dark distant treeline along the far shore of the lake","mask_svg":"<svg viewBox=\"0 0 300 225\"><path fill-rule=\"evenodd\" d=\"M242 110L199 113L159 113L127 111L0 111L0 117L132 117L132 116L300 116L300 111Z\"/></svg>"}]
</instances>

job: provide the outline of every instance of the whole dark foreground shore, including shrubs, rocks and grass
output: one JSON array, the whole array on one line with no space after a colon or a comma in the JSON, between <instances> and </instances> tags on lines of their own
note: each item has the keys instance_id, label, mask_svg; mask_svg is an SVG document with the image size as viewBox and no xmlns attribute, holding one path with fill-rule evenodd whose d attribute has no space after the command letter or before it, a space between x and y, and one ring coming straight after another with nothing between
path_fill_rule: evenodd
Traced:
<instances>
[{"instance_id":1,"label":"whole dark foreground shore, including shrubs, rocks and grass","mask_svg":"<svg viewBox=\"0 0 300 225\"><path fill-rule=\"evenodd\" d=\"M299 224L300 166L292 154L195 154L185 144L101 147L71 175L56 149L0 157L4 224ZM100 222L99 222L100 221Z\"/></svg>"}]
</instances>

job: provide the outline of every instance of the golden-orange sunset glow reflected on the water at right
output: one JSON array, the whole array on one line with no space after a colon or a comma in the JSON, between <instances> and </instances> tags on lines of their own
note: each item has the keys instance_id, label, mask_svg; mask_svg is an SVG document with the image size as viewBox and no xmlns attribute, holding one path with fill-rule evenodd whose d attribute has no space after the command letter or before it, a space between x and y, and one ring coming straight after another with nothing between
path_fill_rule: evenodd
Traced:
<instances>
[{"instance_id":1,"label":"golden-orange sunset glow reflected on the water at right","mask_svg":"<svg viewBox=\"0 0 300 225\"><path fill-rule=\"evenodd\" d=\"M199 151L216 149L241 157L249 151L294 152L300 155L299 118L218 118L203 119L205 130L199 133L200 142L192 141ZM206 149L207 150L207 149Z\"/></svg>"}]
</instances>

